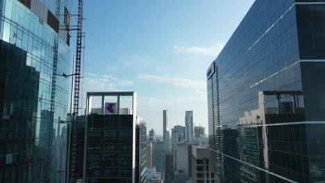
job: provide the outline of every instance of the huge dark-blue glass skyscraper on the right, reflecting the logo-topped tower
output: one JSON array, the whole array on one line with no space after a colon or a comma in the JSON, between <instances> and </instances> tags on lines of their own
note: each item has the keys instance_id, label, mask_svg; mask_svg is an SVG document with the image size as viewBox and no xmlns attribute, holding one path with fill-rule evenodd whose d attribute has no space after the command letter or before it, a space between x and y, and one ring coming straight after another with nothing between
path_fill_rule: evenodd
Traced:
<instances>
[{"instance_id":1,"label":"huge dark-blue glass skyscraper on the right, reflecting the logo-topped tower","mask_svg":"<svg viewBox=\"0 0 325 183\"><path fill-rule=\"evenodd\" d=\"M324 182L324 0L256 0L207 80L222 182Z\"/></svg>"}]
</instances>

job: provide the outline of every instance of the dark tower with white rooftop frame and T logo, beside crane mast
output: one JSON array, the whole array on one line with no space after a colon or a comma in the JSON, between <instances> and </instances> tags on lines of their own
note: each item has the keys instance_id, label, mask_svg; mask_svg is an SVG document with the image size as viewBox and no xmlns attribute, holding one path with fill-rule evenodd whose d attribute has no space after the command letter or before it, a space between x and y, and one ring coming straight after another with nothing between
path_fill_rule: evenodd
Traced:
<instances>
[{"instance_id":1,"label":"dark tower with white rooftop frame and T logo, beside crane mast","mask_svg":"<svg viewBox=\"0 0 325 183\"><path fill-rule=\"evenodd\" d=\"M131 96L132 101L128 100ZM92 98L101 108L92 108ZM121 107L122 103L131 106ZM146 123L136 115L135 92L88 92L83 180L85 182L145 182Z\"/></svg>"}]
</instances>

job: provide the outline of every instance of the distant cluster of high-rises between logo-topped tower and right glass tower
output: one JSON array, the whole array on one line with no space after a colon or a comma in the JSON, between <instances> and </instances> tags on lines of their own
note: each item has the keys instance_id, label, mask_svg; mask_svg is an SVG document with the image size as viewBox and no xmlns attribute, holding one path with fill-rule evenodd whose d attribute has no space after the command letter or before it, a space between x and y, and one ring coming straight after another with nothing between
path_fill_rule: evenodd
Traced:
<instances>
[{"instance_id":1,"label":"distant cluster of high-rises between logo-topped tower and right glass tower","mask_svg":"<svg viewBox=\"0 0 325 183\"><path fill-rule=\"evenodd\" d=\"M147 167L154 168L159 176L153 176L153 180L147 176L147 181L156 181L156 177L160 177L159 181L170 183L217 182L213 166L208 163L211 157L205 128L194 127L193 111L185 111L184 119L184 126L174 125L170 137L168 110L163 110L163 139L156 137L155 130L149 131Z\"/></svg>"}]
</instances>

